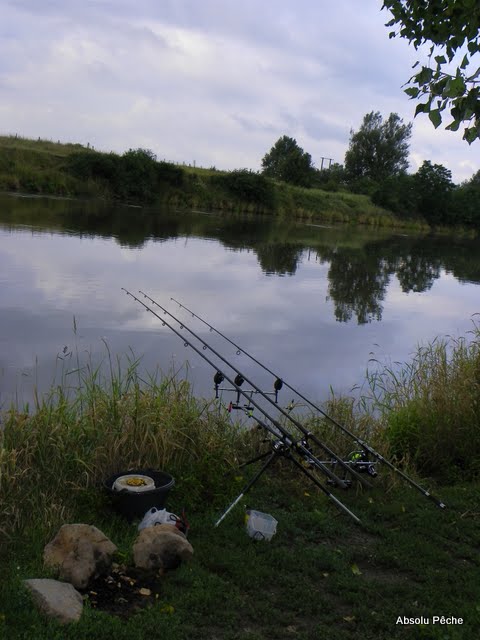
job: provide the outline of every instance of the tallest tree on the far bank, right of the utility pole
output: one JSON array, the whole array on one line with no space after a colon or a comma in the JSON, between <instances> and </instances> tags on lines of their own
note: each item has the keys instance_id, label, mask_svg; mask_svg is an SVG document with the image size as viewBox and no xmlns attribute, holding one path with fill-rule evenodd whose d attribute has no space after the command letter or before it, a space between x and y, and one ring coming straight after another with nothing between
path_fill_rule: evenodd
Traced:
<instances>
[{"instance_id":1,"label":"tallest tree on the far bank, right of the utility pole","mask_svg":"<svg viewBox=\"0 0 480 640\"><path fill-rule=\"evenodd\" d=\"M396 113L383 121L378 111L363 118L358 131L350 131L350 145L345 154L345 171L350 182L369 179L381 182L403 173L408 167L408 141L412 124L403 124Z\"/></svg>"}]
</instances>

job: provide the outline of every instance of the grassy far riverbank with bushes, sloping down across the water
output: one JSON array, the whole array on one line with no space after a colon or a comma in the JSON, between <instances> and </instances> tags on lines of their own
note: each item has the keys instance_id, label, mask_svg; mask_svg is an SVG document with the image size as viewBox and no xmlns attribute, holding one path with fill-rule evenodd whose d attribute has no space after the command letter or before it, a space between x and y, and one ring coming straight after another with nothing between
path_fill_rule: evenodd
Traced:
<instances>
[{"instance_id":1,"label":"grassy far riverbank with bushes, sloping down across the water","mask_svg":"<svg viewBox=\"0 0 480 640\"><path fill-rule=\"evenodd\" d=\"M136 152L119 156L13 136L0 136L0 190L428 229L421 221L396 219L363 195L294 187L248 171L149 162Z\"/></svg>"}]
</instances>

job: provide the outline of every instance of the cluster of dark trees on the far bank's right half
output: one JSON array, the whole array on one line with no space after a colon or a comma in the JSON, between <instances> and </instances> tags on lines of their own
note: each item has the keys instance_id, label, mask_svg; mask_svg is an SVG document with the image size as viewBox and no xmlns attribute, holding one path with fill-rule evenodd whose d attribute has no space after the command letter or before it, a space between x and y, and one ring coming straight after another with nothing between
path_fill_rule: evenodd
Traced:
<instances>
[{"instance_id":1,"label":"cluster of dark trees on the far bank's right half","mask_svg":"<svg viewBox=\"0 0 480 640\"><path fill-rule=\"evenodd\" d=\"M314 167L296 140L283 136L263 157L262 173L305 188L365 194L399 218L424 218L432 226L480 226L480 171L455 185L449 169L425 160L407 173L412 125L396 113L367 113L350 132L345 163Z\"/></svg>"}]
</instances>

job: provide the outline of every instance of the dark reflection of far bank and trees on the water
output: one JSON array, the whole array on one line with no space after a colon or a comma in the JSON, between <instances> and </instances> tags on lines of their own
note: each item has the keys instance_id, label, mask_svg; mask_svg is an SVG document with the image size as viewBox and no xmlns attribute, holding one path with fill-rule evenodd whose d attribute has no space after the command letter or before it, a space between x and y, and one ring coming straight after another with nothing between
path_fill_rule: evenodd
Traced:
<instances>
[{"instance_id":1,"label":"dark reflection of far bank and trees on the water","mask_svg":"<svg viewBox=\"0 0 480 640\"><path fill-rule=\"evenodd\" d=\"M79 236L113 237L129 247L177 237L215 239L234 251L254 251L269 275L294 275L308 250L319 263L330 265L328 294L339 322L353 317L360 324L381 320L392 275L404 293L427 291L442 269L461 281L480 283L479 241L452 236L391 235L370 240L363 229L325 229L316 235L273 217L202 216L108 202L23 198L2 199L1 221Z\"/></svg>"}]
</instances>

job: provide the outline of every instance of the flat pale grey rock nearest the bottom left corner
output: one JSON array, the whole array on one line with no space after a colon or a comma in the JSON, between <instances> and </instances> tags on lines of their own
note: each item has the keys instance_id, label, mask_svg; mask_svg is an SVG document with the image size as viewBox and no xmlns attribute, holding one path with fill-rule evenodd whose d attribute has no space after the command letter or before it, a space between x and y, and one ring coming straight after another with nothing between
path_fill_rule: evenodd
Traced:
<instances>
[{"instance_id":1,"label":"flat pale grey rock nearest the bottom left corner","mask_svg":"<svg viewBox=\"0 0 480 640\"><path fill-rule=\"evenodd\" d=\"M77 622L82 615L83 599L67 582L33 579L24 581L37 607L62 624Z\"/></svg>"}]
</instances>

